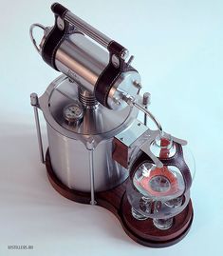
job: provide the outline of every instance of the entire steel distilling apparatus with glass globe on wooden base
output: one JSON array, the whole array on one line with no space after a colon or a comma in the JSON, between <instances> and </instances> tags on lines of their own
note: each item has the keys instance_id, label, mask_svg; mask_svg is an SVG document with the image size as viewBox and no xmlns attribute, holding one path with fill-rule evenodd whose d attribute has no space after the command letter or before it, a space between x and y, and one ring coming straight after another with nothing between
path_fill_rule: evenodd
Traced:
<instances>
[{"instance_id":1,"label":"entire steel distilling apparatus with glass globe on wooden base","mask_svg":"<svg viewBox=\"0 0 223 256\"><path fill-rule=\"evenodd\" d=\"M107 208L141 245L176 244L193 222L195 165L187 142L164 132L149 111L150 94L140 95L126 48L62 5L51 10L54 26L29 30L43 60L63 73L41 97L30 95L51 185L70 200ZM36 28L43 30L40 44ZM46 156L38 109L46 119Z\"/></svg>"}]
</instances>

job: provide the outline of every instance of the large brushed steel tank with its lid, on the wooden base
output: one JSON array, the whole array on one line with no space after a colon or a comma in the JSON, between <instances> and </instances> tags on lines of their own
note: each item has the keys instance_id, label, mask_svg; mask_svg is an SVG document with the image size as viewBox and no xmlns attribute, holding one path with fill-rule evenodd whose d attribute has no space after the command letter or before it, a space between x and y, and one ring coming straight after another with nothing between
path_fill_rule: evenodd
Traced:
<instances>
[{"instance_id":1,"label":"large brushed steel tank with its lid, on the wooden base","mask_svg":"<svg viewBox=\"0 0 223 256\"><path fill-rule=\"evenodd\" d=\"M64 75L53 81L39 98L40 108L47 122L51 165L65 186L80 191L91 191L93 163L94 190L102 191L121 184L128 172L112 158L113 137L129 127L138 110L127 107L121 111L102 105L84 109L84 120L77 127L68 126L63 119L66 104L78 100L78 86ZM93 159L87 145L94 141ZM92 161L93 160L93 161Z\"/></svg>"}]
</instances>

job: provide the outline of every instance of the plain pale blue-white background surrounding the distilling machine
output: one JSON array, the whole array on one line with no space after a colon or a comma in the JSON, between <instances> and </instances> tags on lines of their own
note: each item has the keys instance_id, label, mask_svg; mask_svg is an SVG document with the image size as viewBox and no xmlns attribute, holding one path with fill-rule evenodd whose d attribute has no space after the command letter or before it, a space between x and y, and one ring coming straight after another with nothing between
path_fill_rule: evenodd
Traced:
<instances>
[{"instance_id":1,"label":"plain pale blue-white background surrounding the distilling machine","mask_svg":"<svg viewBox=\"0 0 223 256\"><path fill-rule=\"evenodd\" d=\"M176 246L148 248L133 242L112 213L73 203L49 185L29 94L41 95L59 73L37 54L28 28L53 24L51 1L1 0L0 255L222 255L223 2L62 3L135 55L151 110L167 132L189 141L195 220ZM44 139L46 146L46 133Z\"/></svg>"}]
</instances>

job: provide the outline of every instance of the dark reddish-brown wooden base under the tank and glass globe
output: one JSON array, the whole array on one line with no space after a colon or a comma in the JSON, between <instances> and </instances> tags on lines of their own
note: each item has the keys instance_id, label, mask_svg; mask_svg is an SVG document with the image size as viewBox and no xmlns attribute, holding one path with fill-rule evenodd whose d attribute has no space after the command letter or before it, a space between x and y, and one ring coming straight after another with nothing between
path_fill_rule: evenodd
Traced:
<instances>
[{"instance_id":1,"label":"dark reddish-brown wooden base under the tank and glass globe","mask_svg":"<svg viewBox=\"0 0 223 256\"><path fill-rule=\"evenodd\" d=\"M48 150L46 152L46 170L52 187L60 194L78 203L90 203L90 193L70 189L57 178L51 167ZM181 213L174 217L174 224L171 228L159 230L153 225L152 219L139 221L132 216L131 206L125 193L127 182L128 179L119 187L97 192L95 199L97 206L104 207L116 215L128 236L143 246L165 247L176 244L188 233L194 215L191 201Z\"/></svg>"}]
</instances>

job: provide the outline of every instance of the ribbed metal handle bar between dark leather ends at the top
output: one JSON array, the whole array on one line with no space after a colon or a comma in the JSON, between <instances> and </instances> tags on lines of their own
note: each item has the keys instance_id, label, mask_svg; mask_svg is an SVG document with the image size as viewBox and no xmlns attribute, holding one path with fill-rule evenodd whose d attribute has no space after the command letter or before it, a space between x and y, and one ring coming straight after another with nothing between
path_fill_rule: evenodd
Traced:
<instances>
[{"instance_id":1,"label":"ribbed metal handle bar between dark leather ends at the top","mask_svg":"<svg viewBox=\"0 0 223 256\"><path fill-rule=\"evenodd\" d=\"M111 38L86 23L83 19L79 18L71 11L67 11L65 13L65 20L74 25L78 30L81 30L82 32L84 32L84 34L88 35L90 38L101 44L104 48L107 48L109 43L112 41Z\"/></svg>"}]
</instances>

